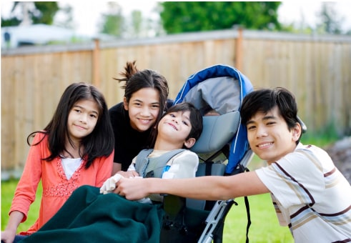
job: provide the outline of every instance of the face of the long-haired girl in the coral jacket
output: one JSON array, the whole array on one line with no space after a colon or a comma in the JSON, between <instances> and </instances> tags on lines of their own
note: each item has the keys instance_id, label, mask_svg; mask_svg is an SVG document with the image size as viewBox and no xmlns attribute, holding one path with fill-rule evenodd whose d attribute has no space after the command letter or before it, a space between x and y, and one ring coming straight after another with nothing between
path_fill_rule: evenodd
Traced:
<instances>
[{"instance_id":1,"label":"face of the long-haired girl in the coral jacket","mask_svg":"<svg viewBox=\"0 0 351 243\"><path fill-rule=\"evenodd\" d=\"M97 125L99 106L94 100L80 100L69 111L67 127L71 139L80 141L91 134Z\"/></svg>"}]
</instances>

